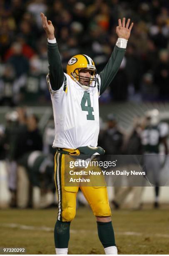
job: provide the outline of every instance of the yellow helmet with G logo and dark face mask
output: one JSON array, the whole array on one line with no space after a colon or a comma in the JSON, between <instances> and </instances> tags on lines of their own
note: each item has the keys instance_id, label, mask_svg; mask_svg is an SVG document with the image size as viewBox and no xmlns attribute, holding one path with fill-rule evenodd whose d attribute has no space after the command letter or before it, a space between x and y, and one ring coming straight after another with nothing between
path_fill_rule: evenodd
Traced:
<instances>
[{"instance_id":1,"label":"yellow helmet with G logo and dark face mask","mask_svg":"<svg viewBox=\"0 0 169 256\"><path fill-rule=\"evenodd\" d=\"M91 77L86 78L80 76L80 71L91 70ZM94 61L85 54L77 54L73 56L67 64L67 74L81 87L87 90L89 87L95 87L97 78L96 76L96 67ZM89 80L88 84L82 84L82 79ZM92 83L94 81L94 83Z\"/></svg>"}]
</instances>

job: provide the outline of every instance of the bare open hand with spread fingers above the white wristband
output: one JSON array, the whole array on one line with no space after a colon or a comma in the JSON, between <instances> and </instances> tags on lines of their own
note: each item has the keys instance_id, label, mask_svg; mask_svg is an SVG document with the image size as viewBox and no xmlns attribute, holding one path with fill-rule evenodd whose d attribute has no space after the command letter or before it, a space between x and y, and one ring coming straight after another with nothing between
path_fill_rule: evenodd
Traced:
<instances>
[{"instance_id":1,"label":"bare open hand with spread fingers above the white wristband","mask_svg":"<svg viewBox=\"0 0 169 256\"><path fill-rule=\"evenodd\" d=\"M119 26L116 27L117 36L128 40L134 23L132 22L131 25L129 26L130 19L128 19L125 25L126 18L123 18L122 21L121 19L119 19L118 21Z\"/></svg>"}]
</instances>

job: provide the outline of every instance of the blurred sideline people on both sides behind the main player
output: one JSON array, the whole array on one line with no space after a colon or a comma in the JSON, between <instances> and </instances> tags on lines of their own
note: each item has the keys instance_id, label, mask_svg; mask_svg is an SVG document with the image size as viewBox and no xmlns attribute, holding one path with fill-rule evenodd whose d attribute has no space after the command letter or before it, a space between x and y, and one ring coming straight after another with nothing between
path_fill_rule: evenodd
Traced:
<instances>
[{"instance_id":1,"label":"blurred sideline people on both sides behind the main player","mask_svg":"<svg viewBox=\"0 0 169 256\"><path fill-rule=\"evenodd\" d=\"M5 126L0 126L0 208L56 207L56 148L52 148L54 121L49 120L42 131L38 127L37 115L28 113L26 108L10 111L5 118ZM147 111L144 117L134 118L128 132L123 131L112 113L107 115L105 123L100 122L98 145L104 148L104 157L122 155L120 165L117 166L121 171L141 171L143 166L147 168L143 183L140 180L139 183L134 182L131 176L129 180L125 180L125 177L119 180L109 177L107 185L114 190L111 205L116 209L123 207L131 193L130 207L140 209L144 187L150 186L150 183L154 186L154 207L159 207L159 188L167 184L167 179L169 181L168 136L169 125L160 121L156 109ZM142 161L137 156L141 156ZM163 182L160 177L162 166L167 170ZM146 180L149 181L148 185ZM85 198L79 192L77 205L85 204Z\"/></svg>"}]
</instances>

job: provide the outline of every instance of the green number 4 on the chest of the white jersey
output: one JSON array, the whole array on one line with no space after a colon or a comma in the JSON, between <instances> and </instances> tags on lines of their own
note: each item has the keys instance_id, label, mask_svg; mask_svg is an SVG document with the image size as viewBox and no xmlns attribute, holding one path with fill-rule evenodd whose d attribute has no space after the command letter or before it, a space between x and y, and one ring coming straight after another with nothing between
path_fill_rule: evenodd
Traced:
<instances>
[{"instance_id":1,"label":"green number 4 on the chest of the white jersey","mask_svg":"<svg viewBox=\"0 0 169 256\"><path fill-rule=\"evenodd\" d=\"M85 106L86 102L87 102L87 106ZM81 108L82 108L82 111L88 112L87 120L94 120L94 115L92 114L94 110L91 107L90 94L88 92L84 92L84 95L81 101Z\"/></svg>"}]
</instances>

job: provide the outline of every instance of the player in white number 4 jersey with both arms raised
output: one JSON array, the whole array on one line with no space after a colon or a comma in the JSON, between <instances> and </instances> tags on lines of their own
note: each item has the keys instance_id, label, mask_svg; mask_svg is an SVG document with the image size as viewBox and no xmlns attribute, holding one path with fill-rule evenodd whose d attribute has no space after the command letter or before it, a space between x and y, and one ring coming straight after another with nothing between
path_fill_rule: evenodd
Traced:
<instances>
[{"instance_id":1,"label":"player in white number 4 jersey with both arms raised","mask_svg":"<svg viewBox=\"0 0 169 256\"><path fill-rule=\"evenodd\" d=\"M42 26L47 33L49 61L49 86L54 120L55 181L58 194L58 216L54 237L57 254L67 254L70 223L75 217L76 195L79 187L65 186L65 156L81 154L104 154L97 147L99 135L98 98L112 82L122 62L133 23L119 19L116 33L118 40L114 51L100 74L96 73L94 61L85 54L73 56L63 72L54 27L41 13ZM130 25L130 26L129 26ZM92 152L92 153L91 153ZM80 187L97 219L99 239L106 254L117 254L111 211L106 187Z\"/></svg>"}]
</instances>

